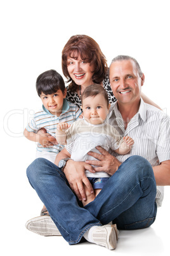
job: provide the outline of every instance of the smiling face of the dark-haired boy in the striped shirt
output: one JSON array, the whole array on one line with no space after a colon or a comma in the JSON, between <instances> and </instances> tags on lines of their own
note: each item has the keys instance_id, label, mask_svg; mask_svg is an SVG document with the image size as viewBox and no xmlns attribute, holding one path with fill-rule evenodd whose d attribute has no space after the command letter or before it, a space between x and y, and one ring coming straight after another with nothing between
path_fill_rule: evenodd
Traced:
<instances>
[{"instance_id":1,"label":"smiling face of the dark-haired boy in the striped shirt","mask_svg":"<svg viewBox=\"0 0 170 256\"><path fill-rule=\"evenodd\" d=\"M65 99L67 90L63 94L62 90L57 90L54 94L44 94L41 93L41 100L44 107L49 110L52 115L57 115L58 117L62 113L63 99Z\"/></svg>"}]
</instances>

